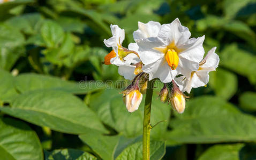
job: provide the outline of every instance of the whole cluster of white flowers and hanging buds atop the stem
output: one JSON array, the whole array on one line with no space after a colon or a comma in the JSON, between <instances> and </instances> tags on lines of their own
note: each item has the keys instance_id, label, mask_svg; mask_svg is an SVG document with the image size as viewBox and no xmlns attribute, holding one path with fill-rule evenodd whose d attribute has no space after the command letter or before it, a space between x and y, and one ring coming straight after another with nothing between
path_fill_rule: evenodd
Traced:
<instances>
[{"instance_id":1,"label":"whole cluster of white flowers and hanging buds atop the stem","mask_svg":"<svg viewBox=\"0 0 256 160\"><path fill-rule=\"evenodd\" d=\"M164 25L154 21L138 22L138 30L133 33L135 43L130 43L128 49L122 46L124 29L117 25L110 28L113 36L104 39L104 44L112 47L112 51L106 55L104 64L119 66L120 75L133 79L122 92L129 112L138 109L147 81L159 78L164 83L160 100L169 101L172 108L183 113L184 92L190 93L192 88L205 86L209 72L219 65L216 47L204 57L202 44L205 36L190 38L189 29L182 26L178 18Z\"/></svg>"}]
</instances>

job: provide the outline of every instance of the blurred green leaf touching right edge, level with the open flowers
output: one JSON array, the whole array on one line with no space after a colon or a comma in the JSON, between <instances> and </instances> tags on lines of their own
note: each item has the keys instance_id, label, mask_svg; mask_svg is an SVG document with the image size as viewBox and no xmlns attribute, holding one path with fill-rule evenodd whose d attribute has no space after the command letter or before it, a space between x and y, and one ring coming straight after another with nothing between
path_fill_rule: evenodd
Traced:
<instances>
[{"instance_id":1,"label":"blurred green leaf touching right edge, level with the open flowers","mask_svg":"<svg viewBox=\"0 0 256 160\"><path fill-rule=\"evenodd\" d=\"M228 45L220 53L220 66L246 76L251 83L256 84L256 56L239 49L237 44Z\"/></svg>"}]
</instances>

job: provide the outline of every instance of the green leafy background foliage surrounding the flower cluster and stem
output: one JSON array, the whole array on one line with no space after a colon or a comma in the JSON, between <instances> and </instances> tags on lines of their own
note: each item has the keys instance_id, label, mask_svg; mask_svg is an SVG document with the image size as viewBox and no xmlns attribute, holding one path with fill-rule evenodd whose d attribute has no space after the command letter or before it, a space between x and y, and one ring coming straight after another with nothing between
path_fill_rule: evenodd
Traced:
<instances>
[{"instance_id":1,"label":"green leafy background foliage surrounding the flower cluster and stem","mask_svg":"<svg viewBox=\"0 0 256 160\"><path fill-rule=\"evenodd\" d=\"M0 159L142 159L142 102L129 114L102 65L109 25L179 18L220 65L184 114L152 105L150 159L256 158L255 0L16 0L0 4ZM92 82L92 81L93 82ZM100 81L101 83L97 83ZM127 81L123 81L129 84Z\"/></svg>"}]
</instances>

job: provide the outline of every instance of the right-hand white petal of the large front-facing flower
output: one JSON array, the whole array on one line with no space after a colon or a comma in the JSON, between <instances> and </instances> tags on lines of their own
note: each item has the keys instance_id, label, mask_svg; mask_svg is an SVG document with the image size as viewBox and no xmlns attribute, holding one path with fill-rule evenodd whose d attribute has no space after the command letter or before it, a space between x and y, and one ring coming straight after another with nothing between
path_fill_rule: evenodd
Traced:
<instances>
[{"instance_id":1,"label":"right-hand white petal of the large front-facing flower","mask_svg":"<svg viewBox=\"0 0 256 160\"><path fill-rule=\"evenodd\" d=\"M197 39L191 38L186 43L177 46L179 50L183 50L179 53L179 57L183 57L194 62L200 62L205 53L204 47L202 47L204 39L205 36Z\"/></svg>"}]
</instances>

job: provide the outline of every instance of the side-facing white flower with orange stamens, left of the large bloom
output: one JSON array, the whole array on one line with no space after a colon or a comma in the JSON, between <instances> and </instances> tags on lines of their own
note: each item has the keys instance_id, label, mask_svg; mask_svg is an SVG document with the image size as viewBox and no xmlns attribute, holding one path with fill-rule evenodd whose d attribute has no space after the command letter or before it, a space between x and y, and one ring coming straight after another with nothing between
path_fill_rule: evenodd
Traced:
<instances>
[{"instance_id":1,"label":"side-facing white flower with orange stamens, left of the large bloom","mask_svg":"<svg viewBox=\"0 0 256 160\"><path fill-rule=\"evenodd\" d=\"M130 43L128 49L122 46L125 33L124 29L119 28L117 25L110 25L112 37L104 39L104 44L107 47L112 47L111 51L104 58L105 65L119 66L118 73L124 76L125 79L132 80L139 72L135 70L137 66L135 64L140 62L138 58L138 45L136 43Z\"/></svg>"}]
</instances>

